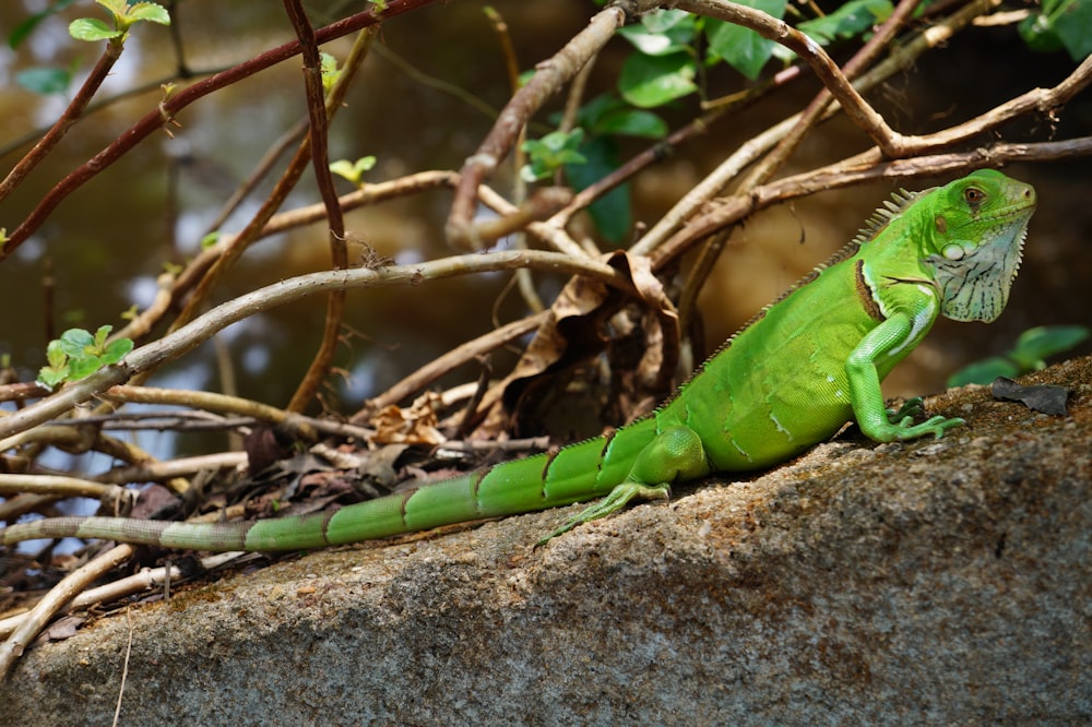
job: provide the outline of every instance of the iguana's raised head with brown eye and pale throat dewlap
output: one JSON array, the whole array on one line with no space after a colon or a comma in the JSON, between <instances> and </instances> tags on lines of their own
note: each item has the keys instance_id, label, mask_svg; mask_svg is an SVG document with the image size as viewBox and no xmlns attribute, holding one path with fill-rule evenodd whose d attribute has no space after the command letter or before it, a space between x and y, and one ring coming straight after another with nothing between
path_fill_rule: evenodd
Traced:
<instances>
[{"instance_id":1,"label":"iguana's raised head with brown eye and pale throat dewlap","mask_svg":"<svg viewBox=\"0 0 1092 727\"><path fill-rule=\"evenodd\" d=\"M931 192L924 262L940 290L940 311L957 321L1001 314L1020 266L1035 189L982 169Z\"/></svg>"}]
</instances>

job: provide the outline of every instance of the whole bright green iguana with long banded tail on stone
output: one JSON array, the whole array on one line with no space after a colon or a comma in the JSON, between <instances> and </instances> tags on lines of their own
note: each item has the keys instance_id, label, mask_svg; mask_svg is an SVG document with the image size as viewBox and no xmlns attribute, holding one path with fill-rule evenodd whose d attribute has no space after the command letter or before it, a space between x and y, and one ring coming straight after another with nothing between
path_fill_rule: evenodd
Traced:
<instances>
[{"instance_id":1,"label":"whole bright green iguana with long banded tail on stone","mask_svg":"<svg viewBox=\"0 0 1092 727\"><path fill-rule=\"evenodd\" d=\"M617 431L335 512L244 523L57 517L16 524L0 543L74 536L199 550L296 550L381 538L606 496L551 533L673 482L760 469L856 419L880 442L962 419L913 424L922 400L888 412L880 381L938 314L993 321L1017 274L1035 190L990 169L901 192L827 265L729 338L660 408ZM544 540L545 541L545 540Z\"/></svg>"}]
</instances>

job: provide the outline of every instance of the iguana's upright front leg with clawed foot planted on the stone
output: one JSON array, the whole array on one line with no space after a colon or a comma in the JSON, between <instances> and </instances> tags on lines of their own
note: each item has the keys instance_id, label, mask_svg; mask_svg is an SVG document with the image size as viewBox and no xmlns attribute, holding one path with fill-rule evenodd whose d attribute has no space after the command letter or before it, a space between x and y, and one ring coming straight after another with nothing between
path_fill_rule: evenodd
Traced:
<instances>
[{"instance_id":1,"label":"iguana's upright front leg with clawed foot planted on the stone","mask_svg":"<svg viewBox=\"0 0 1092 727\"><path fill-rule=\"evenodd\" d=\"M883 392L876 362L883 356L892 356L913 345L915 321L905 313L897 313L873 329L862 338L845 362L850 379L850 398L857 426L869 438L878 442L893 442L933 434L940 439L945 431L963 424L960 418L930 417L919 425L914 424L913 414L922 410L922 400L911 400L898 412L889 412L883 406ZM918 334L917 337L921 337Z\"/></svg>"}]
</instances>

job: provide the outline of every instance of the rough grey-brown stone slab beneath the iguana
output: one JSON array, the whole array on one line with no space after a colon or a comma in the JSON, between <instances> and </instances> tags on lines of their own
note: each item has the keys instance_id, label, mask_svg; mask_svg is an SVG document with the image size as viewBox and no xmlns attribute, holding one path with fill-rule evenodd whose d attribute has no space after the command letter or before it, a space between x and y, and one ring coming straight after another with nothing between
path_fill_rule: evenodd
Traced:
<instances>
[{"instance_id":1,"label":"rough grey-brown stone slab beneath the iguana","mask_svg":"<svg viewBox=\"0 0 1092 727\"><path fill-rule=\"evenodd\" d=\"M1087 724L1092 360L1068 417L846 434L530 544L568 511L312 553L24 655L0 724Z\"/></svg>"}]
</instances>

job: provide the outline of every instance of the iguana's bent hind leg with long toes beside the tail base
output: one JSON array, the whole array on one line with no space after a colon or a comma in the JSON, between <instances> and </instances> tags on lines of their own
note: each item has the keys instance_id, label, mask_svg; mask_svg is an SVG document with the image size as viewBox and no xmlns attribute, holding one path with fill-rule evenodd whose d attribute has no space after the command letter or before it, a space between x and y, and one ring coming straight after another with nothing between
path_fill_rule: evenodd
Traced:
<instances>
[{"instance_id":1,"label":"iguana's bent hind leg with long toes beside the tail base","mask_svg":"<svg viewBox=\"0 0 1092 727\"><path fill-rule=\"evenodd\" d=\"M609 453L607 456L610 456ZM656 434L633 461L625 481L615 486L605 498L577 513L563 525L538 541L568 533L577 525L621 510L633 498L646 500L670 497L672 482L704 477L713 472L705 448L698 433L682 425L668 427Z\"/></svg>"}]
</instances>

